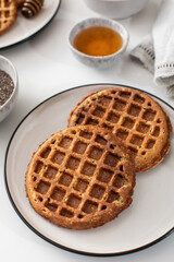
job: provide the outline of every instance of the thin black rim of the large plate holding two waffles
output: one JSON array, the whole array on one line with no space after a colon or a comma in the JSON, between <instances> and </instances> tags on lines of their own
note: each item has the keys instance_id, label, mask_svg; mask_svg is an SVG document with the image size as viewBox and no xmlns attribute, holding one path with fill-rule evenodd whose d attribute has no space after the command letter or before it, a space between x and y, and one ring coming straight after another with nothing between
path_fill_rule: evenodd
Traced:
<instances>
[{"instance_id":1,"label":"thin black rim of the large plate holding two waffles","mask_svg":"<svg viewBox=\"0 0 174 262\"><path fill-rule=\"evenodd\" d=\"M10 199L10 202L12 204L12 206L14 207L15 212L17 213L17 215L21 217L21 219L25 223L25 225L30 228L36 235L38 235L40 238L42 238L44 240L46 240L47 242L58 247L58 248L61 248L61 249L64 249L66 251L71 251L71 252L74 252L74 253L78 253L78 254L84 254L84 255L90 255L90 257L115 257L115 255L123 255L123 254L130 254L130 253L134 253L134 252L137 252L137 251L140 251L140 250L144 250L146 248L149 248L151 246L153 246L154 243L157 242L160 242L161 240L163 240L164 238L166 238L170 234L173 233L173 228L171 228L169 231L166 231L164 235L162 235L161 237L157 238L156 240L145 245L145 246L141 246L141 247L138 247L138 248L135 248L135 249L132 249L132 250L126 250L126 251L122 251L122 252L112 252L112 253L95 253L95 252L87 252L87 251L82 251L82 250L76 250L76 249L72 249L72 248L69 248L66 246L63 246L61 243L58 243L51 239L49 239L48 237L44 236L42 234L40 234L35 227L33 227L26 219L25 217L22 215L22 213L18 211L18 209L16 207L15 205L15 201L13 200L12 195L11 195L11 192L10 192L10 189L9 189L9 184L8 184L8 176L7 176L7 163L8 163L8 153L10 151L10 145L12 143L12 140L15 135L15 133L17 132L18 128L22 126L22 123L25 121L25 119L33 112L35 111L38 107L40 107L42 104L45 104L46 102L52 99L53 97L55 96L59 96L63 93L67 93L70 91L73 91L73 90L78 90L78 88L84 88L84 87L94 87L94 86L105 86L107 88L108 87L116 87L116 86L121 86L121 87L128 87L128 88L133 88L133 90L137 90L137 91L140 91L140 92L144 92L159 100L161 100L162 103L164 103L167 107L170 107L172 110L174 110L174 108L169 105L166 102L164 102L163 99L161 99L160 97L156 96L156 95L152 95L150 94L149 92L146 92L146 91L141 91L137 87L133 87L133 86L128 86L128 85L122 85L122 84L112 84L112 83L97 83L97 84L87 84L87 85L79 85L79 86L75 86L75 87L72 87L72 88L69 88L69 90L65 90L65 91L62 91L60 93L57 93L55 95L52 95L50 96L49 98L45 99L44 102L41 102L40 104L38 104L36 107L34 107L23 119L22 121L17 124L17 127L15 128L10 141L9 141L9 144L8 144L8 147L7 147L7 152L5 152L5 160L4 160L4 183L5 183L5 189L7 189L7 192L8 192L8 196Z\"/></svg>"}]
</instances>

